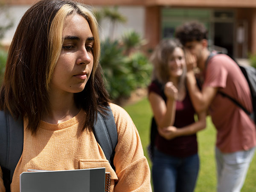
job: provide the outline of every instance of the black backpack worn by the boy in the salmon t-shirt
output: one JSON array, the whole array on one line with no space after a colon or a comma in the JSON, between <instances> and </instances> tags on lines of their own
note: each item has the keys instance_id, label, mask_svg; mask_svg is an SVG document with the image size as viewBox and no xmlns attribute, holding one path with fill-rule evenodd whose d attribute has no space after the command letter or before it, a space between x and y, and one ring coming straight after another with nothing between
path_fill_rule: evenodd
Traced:
<instances>
[{"instance_id":1,"label":"black backpack worn by the boy in the salmon t-shirt","mask_svg":"<svg viewBox=\"0 0 256 192\"><path fill-rule=\"evenodd\" d=\"M207 58L206 65L205 65L206 67L207 67L207 63L208 63L209 59L212 58L216 54L223 54L223 53L221 53L221 52L211 53L209 55L209 57ZM236 64L239 66L241 72L244 74L244 77L249 84L250 93L252 96L253 112L250 113L249 111L247 111L247 109L244 108L244 106L242 106L238 101L236 101L236 99L227 95L226 93L223 93L221 91L219 91L218 93L220 93L224 97L227 97L228 99L233 101L237 106L239 106L242 110L244 110L244 112L247 113L247 115L249 115L251 119L253 119L253 121L256 125L256 68L251 67L249 65L240 65L233 57L231 57L230 55L228 55L228 56L230 58L232 58L236 62Z\"/></svg>"}]
</instances>

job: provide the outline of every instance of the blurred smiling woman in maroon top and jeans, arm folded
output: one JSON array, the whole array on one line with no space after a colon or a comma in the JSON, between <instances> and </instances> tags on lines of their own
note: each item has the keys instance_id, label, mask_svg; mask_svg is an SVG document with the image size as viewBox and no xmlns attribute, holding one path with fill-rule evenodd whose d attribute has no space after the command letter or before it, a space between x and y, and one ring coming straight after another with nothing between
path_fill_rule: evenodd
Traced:
<instances>
[{"instance_id":1,"label":"blurred smiling woman in maroon top and jeans, arm folded","mask_svg":"<svg viewBox=\"0 0 256 192\"><path fill-rule=\"evenodd\" d=\"M155 49L148 99L154 113L153 183L155 192L192 192L198 176L196 132L205 128L205 113L198 114L186 89L184 52L177 40L163 40Z\"/></svg>"}]
</instances>

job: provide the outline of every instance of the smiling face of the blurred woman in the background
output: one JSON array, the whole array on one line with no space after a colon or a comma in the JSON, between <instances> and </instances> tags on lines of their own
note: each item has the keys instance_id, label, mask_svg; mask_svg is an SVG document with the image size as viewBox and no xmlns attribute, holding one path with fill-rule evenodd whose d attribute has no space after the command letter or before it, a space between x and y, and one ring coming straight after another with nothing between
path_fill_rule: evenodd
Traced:
<instances>
[{"instance_id":1,"label":"smiling face of the blurred woman in the background","mask_svg":"<svg viewBox=\"0 0 256 192\"><path fill-rule=\"evenodd\" d=\"M176 47L168 58L169 75L171 77L180 77L185 67L184 51Z\"/></svg>"}]
</instances>

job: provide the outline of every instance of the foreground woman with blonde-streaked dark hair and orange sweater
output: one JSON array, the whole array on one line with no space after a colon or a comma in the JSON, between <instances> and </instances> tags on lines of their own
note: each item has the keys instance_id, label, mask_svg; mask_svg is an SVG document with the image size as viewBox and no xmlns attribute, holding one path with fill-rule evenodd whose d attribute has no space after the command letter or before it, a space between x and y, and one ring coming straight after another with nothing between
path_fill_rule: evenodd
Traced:
<instances>
[{"instance_id":1,"label":"foreground woman with blonde-streaked dark hair and orange sweater","mask_svg":"<svg viewBox=\"0 0 256 192\"><path fill-rule=\"evenodd\" d=\"M42 0L20 20L0 92L0 108L24 122L11 192L19 192L19 175L28 169L97 167L111 173L111 192L151 191L137 129L128 113L109 103L99 45L96 19L79 3ZM97 112L108 105L118 134L115 170L92 129ZM5 192L1 169L0 191Z\"/></svg>"}]
</instances>

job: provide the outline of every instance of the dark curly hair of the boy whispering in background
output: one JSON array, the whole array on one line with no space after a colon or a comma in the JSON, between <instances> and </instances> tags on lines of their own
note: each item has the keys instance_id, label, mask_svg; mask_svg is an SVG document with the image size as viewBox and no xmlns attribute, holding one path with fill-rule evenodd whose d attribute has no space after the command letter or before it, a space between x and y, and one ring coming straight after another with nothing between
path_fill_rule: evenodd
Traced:
<instances>
[{"instance_id":1,"label":"dark curly hair of the boy whispering in background","mask_svg":"<svg viewBox=\"0 0 256 192\"><path fill-rule=\"evenodd\" d=\"M175 36L184 46L187 42L207 39L208 31L202 23L192 21L178 26L175 31Z\"/></svg>"}]
</instances>

